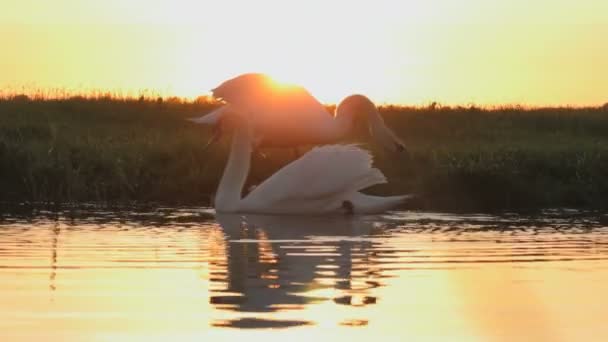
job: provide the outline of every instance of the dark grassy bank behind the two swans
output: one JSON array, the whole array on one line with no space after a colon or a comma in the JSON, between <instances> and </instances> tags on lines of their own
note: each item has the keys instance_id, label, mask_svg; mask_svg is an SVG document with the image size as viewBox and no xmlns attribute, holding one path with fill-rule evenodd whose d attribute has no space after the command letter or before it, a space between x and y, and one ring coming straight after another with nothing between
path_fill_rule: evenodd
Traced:
<instances>
[{"instance_id":1,"label":"dark grassy bank behind the two swans","mask_svg":"<svg viewBox=\"0 0 608 342\"><path fill-rule=\"evenodd\" d=\"M202 151L209 129L184 120L207 101L0 100L0 201L206 205L227 142ZM608 207L608 109L383 107L411 157L369 145L409 208ZM367 140L367 137L355 137ZM252 183L291 160L269 150Z\"/></svg>"}]
</instances>

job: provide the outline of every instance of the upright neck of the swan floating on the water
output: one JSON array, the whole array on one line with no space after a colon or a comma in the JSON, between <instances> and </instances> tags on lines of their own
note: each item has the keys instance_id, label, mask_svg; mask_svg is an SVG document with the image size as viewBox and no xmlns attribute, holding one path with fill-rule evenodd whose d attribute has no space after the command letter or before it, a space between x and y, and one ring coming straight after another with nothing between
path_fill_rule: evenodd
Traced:
<instances>
[{"instance_id":1,"label":"upright neck of the swan floating on the water","mask_svg":"<svg viewBox=\"0 0 608 342\"><path fill-rule=\"evenodd\" d=\"M245 125L239 125L232 137L230 156L215 195L215 210L220 212L238 210L243 186L249 174L251 150L250 130Z\"/></svg>"}]
</instances>

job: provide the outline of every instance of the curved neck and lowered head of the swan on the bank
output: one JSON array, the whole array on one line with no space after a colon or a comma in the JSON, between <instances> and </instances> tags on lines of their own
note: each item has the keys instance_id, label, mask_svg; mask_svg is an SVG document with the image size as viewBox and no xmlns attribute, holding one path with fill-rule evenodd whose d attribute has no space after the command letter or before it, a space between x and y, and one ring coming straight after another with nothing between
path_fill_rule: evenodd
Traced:
<instances>
[{"instance_id":1,"label":"curved neck and lowered head of the swan on the bank","mask_svg":"<svg viewBox=\"0 0 608 342\"><path fill-rule=\"evenodd\" d=\"M382 147L391 152L407 153L405 144L384 123L376 105L364 95L350 95L344 98L336 108L336 116L350 118L354 126L360 125L367 118L369 133Z\"/></svg>"}]
</instances>

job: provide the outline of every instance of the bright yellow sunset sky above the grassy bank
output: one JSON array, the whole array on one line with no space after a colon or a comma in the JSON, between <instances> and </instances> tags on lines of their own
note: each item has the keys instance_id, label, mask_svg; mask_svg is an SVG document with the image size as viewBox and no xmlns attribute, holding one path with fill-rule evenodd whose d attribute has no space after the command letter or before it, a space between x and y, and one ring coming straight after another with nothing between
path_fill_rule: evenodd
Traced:
<instances>
[{"instance_id":1,"label":"bright yellow sunset sky above the grassy bank","mask_svg":"<svg viewBox=\"0 0 608 342\"><path fill-rule=\"evenodd\" d=\"M243 72L324 102L608 102L608 1L0 0L0 86L194 97Z\"/></svg>"}]
</instances>

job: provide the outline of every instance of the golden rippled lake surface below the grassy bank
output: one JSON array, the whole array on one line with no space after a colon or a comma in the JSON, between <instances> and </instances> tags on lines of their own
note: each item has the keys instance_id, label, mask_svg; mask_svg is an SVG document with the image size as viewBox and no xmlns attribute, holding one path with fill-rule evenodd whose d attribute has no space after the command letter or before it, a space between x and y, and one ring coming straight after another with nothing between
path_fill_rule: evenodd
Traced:
<instances>
[{"instance_id":1,"label":"golden rippled lake surface below the grassy bank","mask_svg":"<svg viewBox=\"0 0 608 342\"><path fill-rule=\"evenodd\" d=\"M0 217L2 341L608 340L597 214Z\"/></svg>"}]
</instances>

